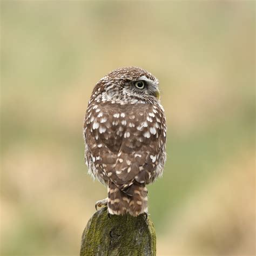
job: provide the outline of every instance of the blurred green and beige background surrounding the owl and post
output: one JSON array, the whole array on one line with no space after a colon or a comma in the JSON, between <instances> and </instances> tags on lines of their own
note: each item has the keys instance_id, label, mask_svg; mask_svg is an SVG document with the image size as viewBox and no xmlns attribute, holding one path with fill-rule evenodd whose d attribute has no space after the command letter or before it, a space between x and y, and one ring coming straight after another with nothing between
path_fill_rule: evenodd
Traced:
<instances>
[{"instance_id":1,"label":"blurred green and beige background surrounding the owl and post","mask_svg":"<svg viewBox=\"0 0 256 256\"><path fill-rule=\"evenodd\" d=\"M1 255L78 255L106 188L84 164L96 82L160 81L158 255L255 253L254 1L1 1Z\"/></svg>"}]
</instances>

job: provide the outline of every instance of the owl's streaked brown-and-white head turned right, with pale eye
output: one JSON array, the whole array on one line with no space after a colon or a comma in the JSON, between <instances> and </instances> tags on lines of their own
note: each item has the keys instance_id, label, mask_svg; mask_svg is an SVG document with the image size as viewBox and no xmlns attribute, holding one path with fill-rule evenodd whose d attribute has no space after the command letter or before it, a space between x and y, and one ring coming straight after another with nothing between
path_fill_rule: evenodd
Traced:
<instances>
[{"instance_id":1,"label":"owl's streaked brown-and-white head turned right, with pale eye","mask_svg":"<svg viewBox=\"0 0 256 256\"><path fill-rule=\"evenodd\" d=\"M97 102L138 103L159 99L158 79L144 69L129 66L111 71L96 84Z\"/></svg>"}]
</instances>

